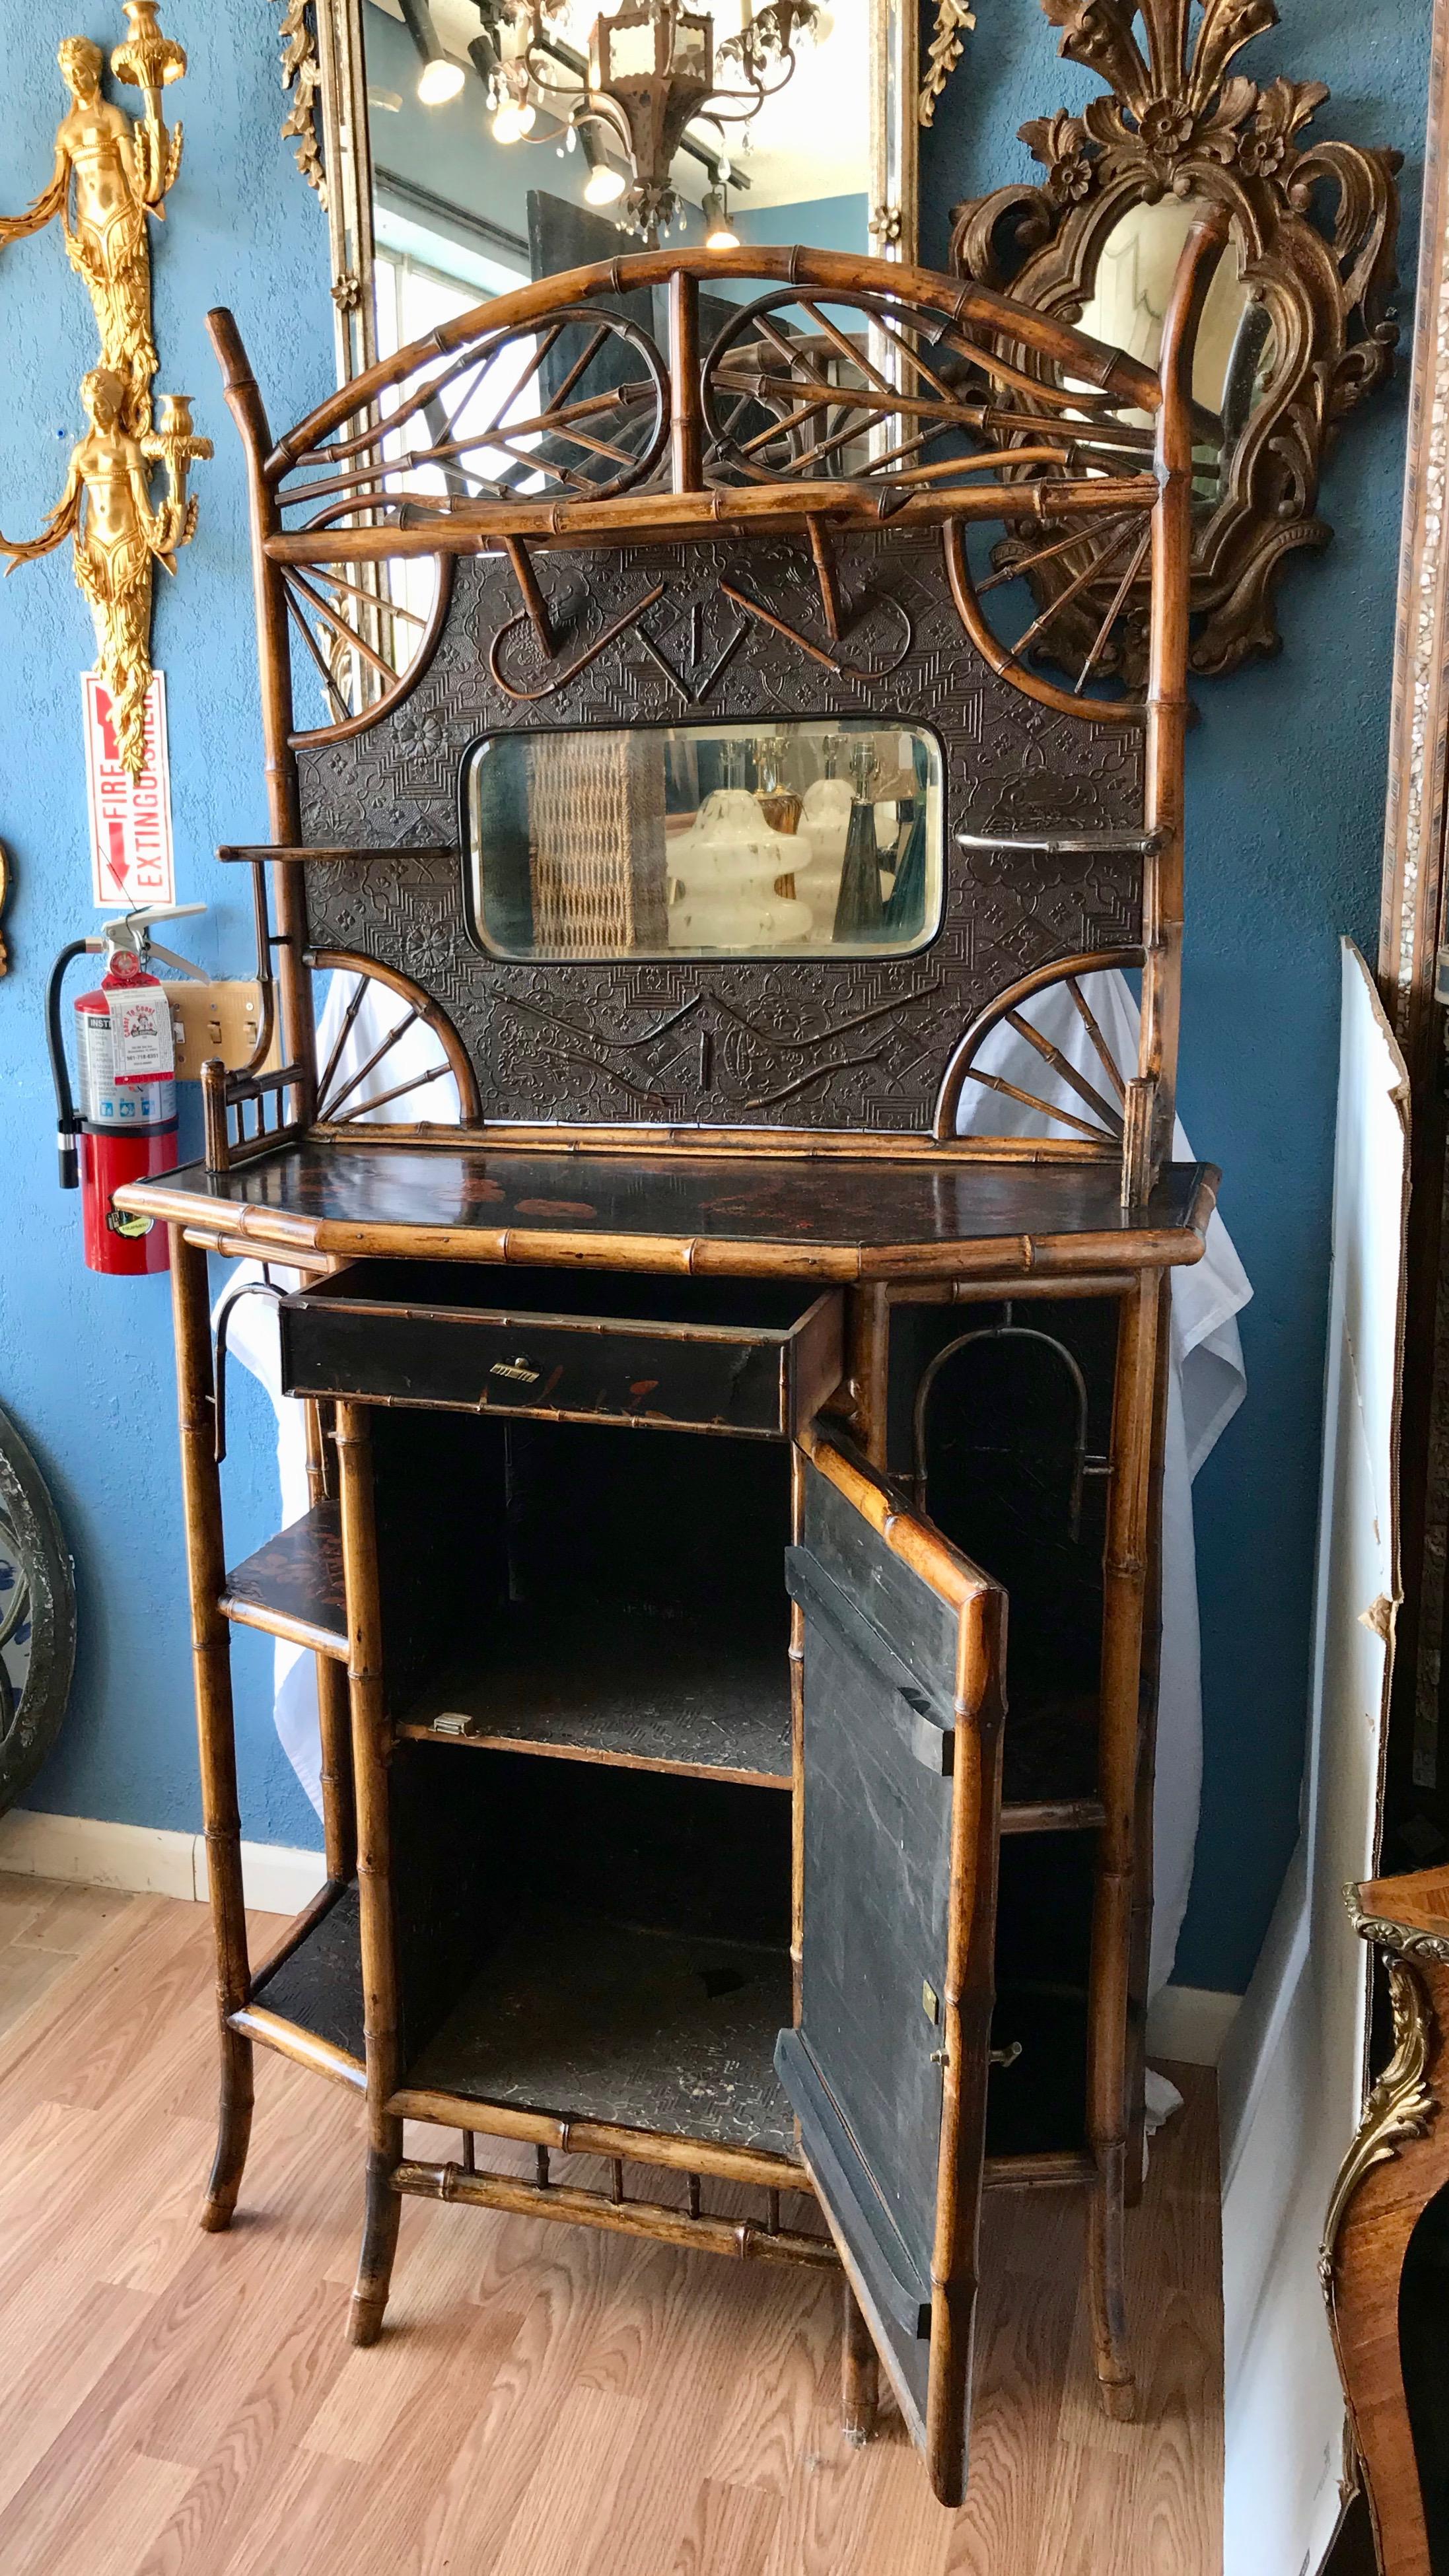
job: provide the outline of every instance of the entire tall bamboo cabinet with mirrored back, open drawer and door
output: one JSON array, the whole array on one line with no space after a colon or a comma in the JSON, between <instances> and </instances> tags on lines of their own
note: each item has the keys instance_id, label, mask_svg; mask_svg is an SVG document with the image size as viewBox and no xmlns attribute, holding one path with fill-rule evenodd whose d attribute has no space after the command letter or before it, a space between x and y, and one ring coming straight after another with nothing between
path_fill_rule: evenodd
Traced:
<instances>
[{"instance_id":1,"label":"entire tall bamboo cabinet with mirrored back, open drawer and door","mask_svg":"<svg viewBox=\"0 0 1449 2576\"><path fill-rule=\"evenodd\" d=\"M1214 1195L1171 1133L1186 374L1220 250L1189 245L1160 376L915 268L650 252L443 325L278 440L211 322L271 799L271 842L227 855L281 1064L268 1005L255 1069L209 1072L206 1167L126 1193L173 1229L206 2226L260 2040L366 2097L358 2342L415 2192L838 2259L848 2424L879 2352L944 2501L982 2190L1088 2192L1096 2370L1132 2406L1163 1311ZM704 276L743 289L712 348ZM1024 505L1003 340L1055 402L1042 551L1091 562L1111 520L1152 567L1142 698L1031 670L982 572ZM1083 989L1111 963L1142 969L1124 1069ZM315 969L356 979L325 1061ZM1052 984L1091 1074L1031 1028ZM397 1028L356 1066L379 992ZM959 1133L1024 1097L1003 1030L1060 1141ZM459 1123L369 1126L410 1092ZM315 1507L232 1571L211 1249L302 1273ZM1039 1355L1065 1432L1026 1455ZM320 1677L327 1888L260 1968L232 1620ZM407 2156L407 2120L462 2156Z\"/></svg>"}]
</instances>

